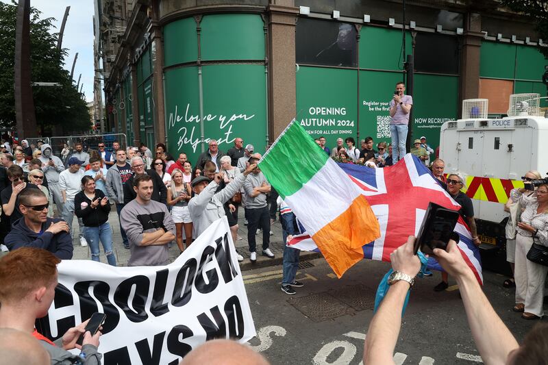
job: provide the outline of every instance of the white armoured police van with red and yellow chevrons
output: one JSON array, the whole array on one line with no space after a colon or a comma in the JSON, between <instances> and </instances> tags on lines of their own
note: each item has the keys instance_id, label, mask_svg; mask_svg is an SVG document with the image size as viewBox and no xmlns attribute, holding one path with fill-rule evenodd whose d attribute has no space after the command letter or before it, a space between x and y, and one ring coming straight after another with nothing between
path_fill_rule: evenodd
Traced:
<instances>
[{"instance_id":1,"label":"white armoured police van with red and yellow chevrons","mask_svg":"<svg viewBox=\"0 0 548 365\"><path fill-rule=\"evenodd\" d=\"M504 203L512 188L523 187L521 177L527 171L548 174L548 118L519 115L445 122L440 158L446 174L459 173L466 179L484 267L508 272Z\"/></svg>"}]
</instances>

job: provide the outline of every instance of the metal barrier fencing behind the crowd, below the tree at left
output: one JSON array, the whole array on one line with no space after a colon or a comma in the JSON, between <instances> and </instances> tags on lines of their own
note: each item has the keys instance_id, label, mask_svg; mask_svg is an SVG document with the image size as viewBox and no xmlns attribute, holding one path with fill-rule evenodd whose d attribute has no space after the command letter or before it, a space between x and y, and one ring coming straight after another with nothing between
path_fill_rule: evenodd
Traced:
<instances>
[{"instance_id":1,"label":"metal barrier fencing behind the crowd, below the tree at left","mask_svg":"<svg viewBox=\"0 0 548 365\"><path fill-rule=\"evenodd\" d=\"M112 143L114 141L119 142L121 149L126 149L127 147L127 137L123 133L117 134L90 134L82 136L63 136L63 137L51 137L51 149L54 155L61 158L63 162L66 163L66 160L75 153L74 144L82 143L84 152L91 153L92 150L98 151L99 148L97 145L99 142L105 144L105 151L112 152ZM62 156L62 150L64 149L64 144L69 147L69 154L66 155L66 158Z\"/></svg>"}]
</instances>

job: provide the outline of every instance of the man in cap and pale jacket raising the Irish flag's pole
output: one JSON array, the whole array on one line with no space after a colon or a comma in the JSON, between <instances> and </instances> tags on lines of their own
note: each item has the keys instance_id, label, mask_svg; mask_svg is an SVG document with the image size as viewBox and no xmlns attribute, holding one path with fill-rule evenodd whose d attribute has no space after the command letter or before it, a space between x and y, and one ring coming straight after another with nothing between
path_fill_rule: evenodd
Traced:
<instances>
[{"instance_id":1,"label":"man in cap and pale jacket raising the Irish flag's pole","mask_svg":"<svg viewBox=\"0 0 548 365\"><path fill-rule=\"evenodd\" d=\"M256 166L256 164L251 164L234 181L227 184L226 188L217 193L215 191L223 180L223 173L216 173L213 181L205 176L199 176L192 180L190 186L192 186L192 191L195 192L195 197L188 201L188 210L196 236L205 231L211 223L225 216L223 204L234 197L234 194L244 184L247 175Z\"/></svg>"}]
</instances>

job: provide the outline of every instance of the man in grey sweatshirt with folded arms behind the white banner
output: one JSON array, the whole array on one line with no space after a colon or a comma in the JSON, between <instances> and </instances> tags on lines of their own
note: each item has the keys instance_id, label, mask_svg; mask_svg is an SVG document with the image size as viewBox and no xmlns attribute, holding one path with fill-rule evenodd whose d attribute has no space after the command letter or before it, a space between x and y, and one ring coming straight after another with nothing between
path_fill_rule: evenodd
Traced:
<instances>
[{"instance_id":1,"label":"man in grey sweatshirt with folded arms behind the white banner","mask_svg":"<svg viewBox=\"0 0 548 365\"><path fill-rule=\"evenodd\" d=\"M131 251L127 266L167 265L167 244L175 240L175 223L165 204L151 200L153 184L149 175L138 175L134 185L137 196L120 214Z\"/></svg>"}]
</instances>

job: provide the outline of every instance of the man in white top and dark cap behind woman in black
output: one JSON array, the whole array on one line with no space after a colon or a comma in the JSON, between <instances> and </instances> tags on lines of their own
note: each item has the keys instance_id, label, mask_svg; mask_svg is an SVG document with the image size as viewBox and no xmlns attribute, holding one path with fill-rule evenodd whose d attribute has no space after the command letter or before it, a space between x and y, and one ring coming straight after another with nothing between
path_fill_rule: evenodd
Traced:
<instances>
[{"instance_id":1,"label":"man in white top and dark cap behind woman in black","mask_svg":"<svg viewBox=\"0 0 548 365\"><path fill-rule=\"evenodd\" d=\"M80 169L80 166L84 164L84 161L71 157L67 164L69 165L69 168L59 174L59 186L64 203L62 217L66 224L69 225L71 237L73 237L74 197L82 191L82 177L84 177L84 171ZM86 242L86 238L84 238L84 222L82 222L82 219L80 218L78 218L78 225L80 226L80 244L82 247L86 247L88 242Z\"/></svg>"}]
</instances>

